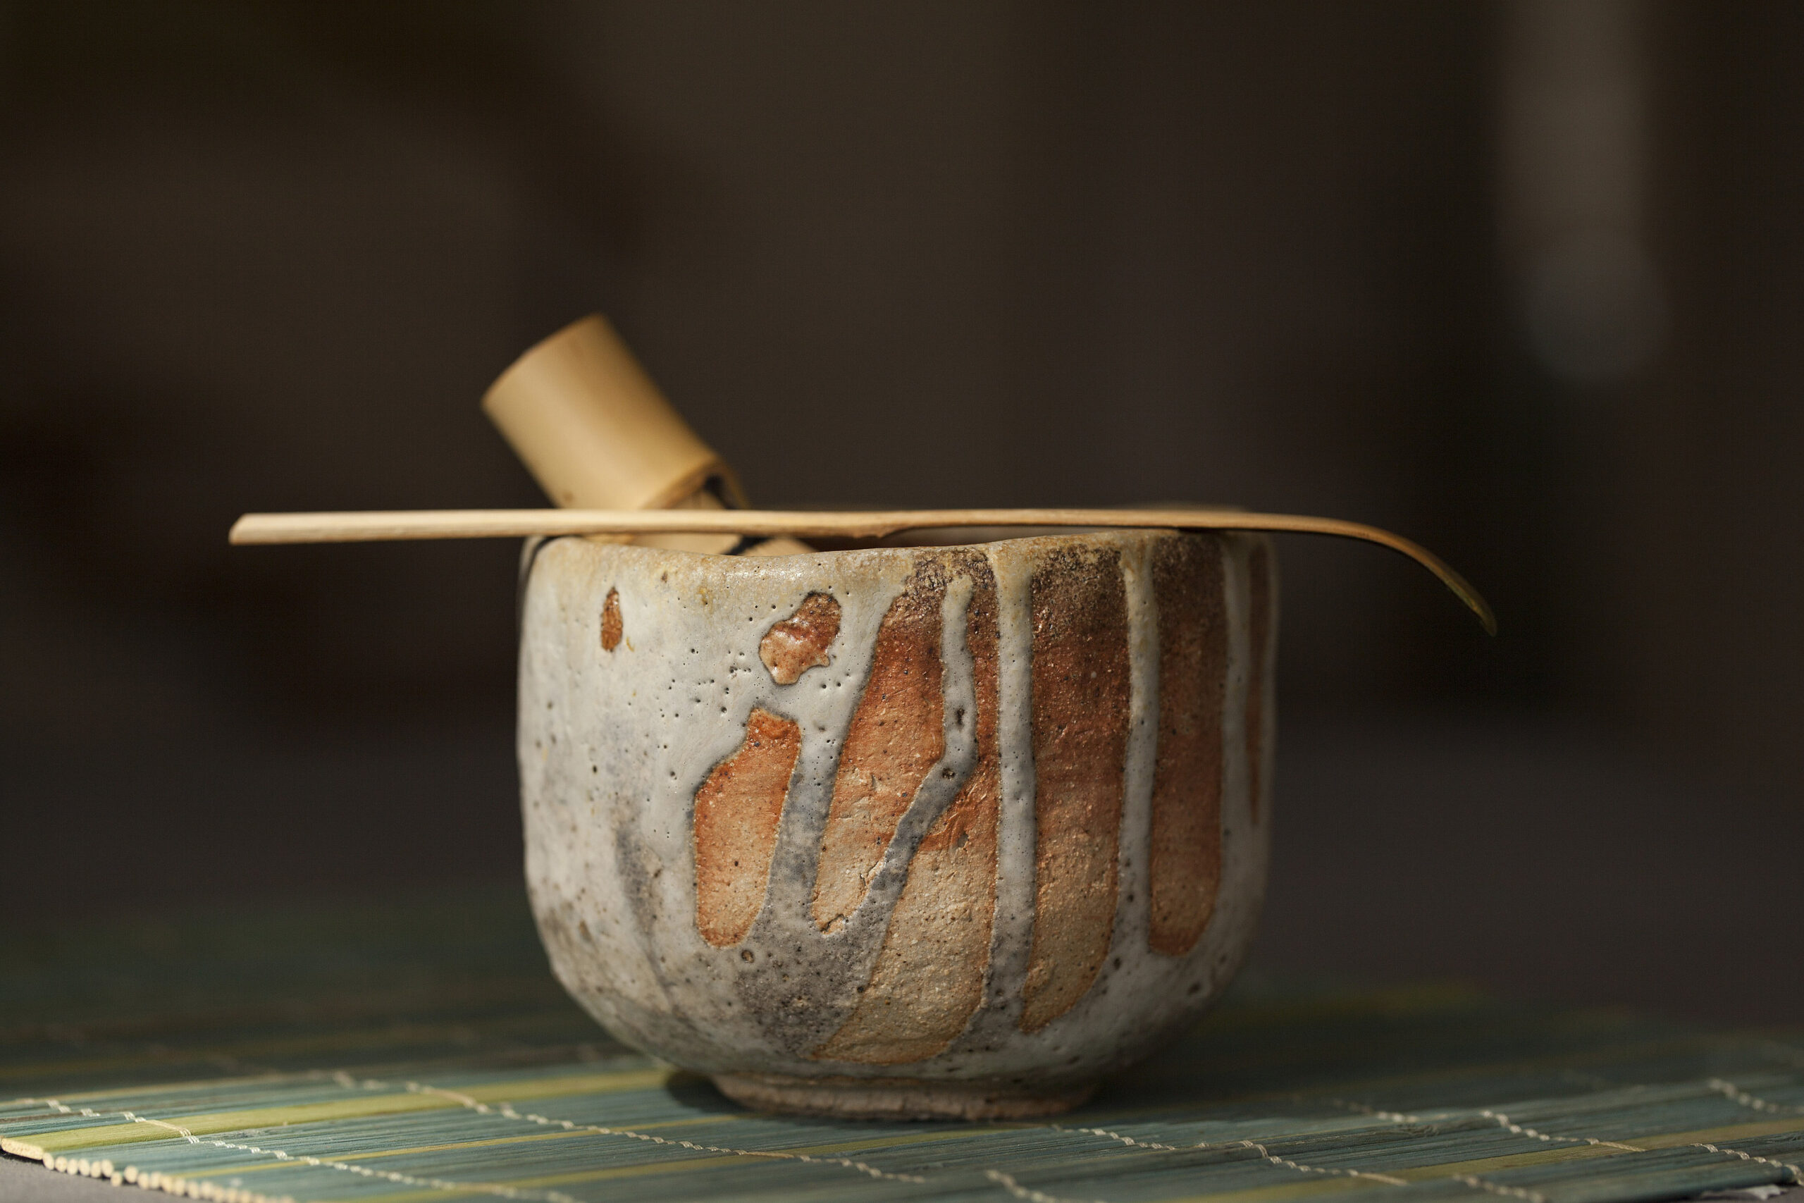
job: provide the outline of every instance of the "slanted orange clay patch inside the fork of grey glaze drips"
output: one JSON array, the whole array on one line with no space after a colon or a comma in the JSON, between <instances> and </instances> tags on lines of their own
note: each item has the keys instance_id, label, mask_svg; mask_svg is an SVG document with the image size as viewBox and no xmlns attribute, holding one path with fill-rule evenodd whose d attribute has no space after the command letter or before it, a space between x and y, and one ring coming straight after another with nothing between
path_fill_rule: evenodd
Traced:
<instances>
[{"instance_id":1,"label":"slanted orange clay patch inside the fork of grey glaze drips","mask_svg":"<svg viewBox=\"0 0 1804 1203\"><path fill-rule=\"evenodd\" d=\"M945 752L940 604L945 579L916 574L877 628L871 675L846 730L821 831L814 922L844 925L870 889L915 790Z\"/></svg>"}]
</instances>

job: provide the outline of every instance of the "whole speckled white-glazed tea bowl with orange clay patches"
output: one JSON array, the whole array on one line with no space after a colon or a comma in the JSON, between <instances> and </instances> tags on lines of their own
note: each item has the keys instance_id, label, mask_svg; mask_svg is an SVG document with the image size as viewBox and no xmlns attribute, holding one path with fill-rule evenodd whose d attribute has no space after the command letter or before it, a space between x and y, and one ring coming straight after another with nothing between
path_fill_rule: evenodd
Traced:
<instances>
[{"instance_id":1,"label":"whole speckled white-glazed tea bowl with orange clay patches","mask_svg":"<svg viewBox=\"0 0 1804 1203\"><path fill-rule=\"evenodd\" d=\"M767 1109L1073 1106L1239 967L1275 565L1241 534L529 546L527 882L619 1039Z\"/></svg>"}]
</instances>

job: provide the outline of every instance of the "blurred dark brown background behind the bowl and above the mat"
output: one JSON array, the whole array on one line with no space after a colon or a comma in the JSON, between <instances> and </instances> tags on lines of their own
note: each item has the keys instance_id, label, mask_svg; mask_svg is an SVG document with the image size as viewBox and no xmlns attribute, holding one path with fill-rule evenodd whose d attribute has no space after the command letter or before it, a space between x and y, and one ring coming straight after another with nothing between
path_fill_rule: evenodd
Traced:
<instances>
[{"instance_id":1,"label":"blurred dark brown background behind the bowl and above the mat","mask_svg":"<svg viewBox=\"0 0 1804 1203\"><path fill-rule=\"evenodd\" d=\"M476 409L1290 539L1259 958L1804 1014L1804 7L0 4L4 922L518 875Z\"/></svg>"}]
</instances>

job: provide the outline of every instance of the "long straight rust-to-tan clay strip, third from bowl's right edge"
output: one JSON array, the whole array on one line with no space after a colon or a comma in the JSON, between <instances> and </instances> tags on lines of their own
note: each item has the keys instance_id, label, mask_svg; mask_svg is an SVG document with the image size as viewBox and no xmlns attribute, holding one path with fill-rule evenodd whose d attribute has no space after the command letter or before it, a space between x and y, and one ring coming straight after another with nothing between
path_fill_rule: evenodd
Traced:
<instances>
[{"instance_id":1,"label":"long straight rust-to-tan clay strip, third from bowl's right edge","mask_svg":"<svg viewBox=\"0 0 1804 1203\"><path fill-rule=\"evenodd\" d=\"M1068 1012L1115 927L1128 754L1128 595L1120 557L1048 557L1034 604L1034 947L1021 1030Z\"/></svg>"}]
</instances>

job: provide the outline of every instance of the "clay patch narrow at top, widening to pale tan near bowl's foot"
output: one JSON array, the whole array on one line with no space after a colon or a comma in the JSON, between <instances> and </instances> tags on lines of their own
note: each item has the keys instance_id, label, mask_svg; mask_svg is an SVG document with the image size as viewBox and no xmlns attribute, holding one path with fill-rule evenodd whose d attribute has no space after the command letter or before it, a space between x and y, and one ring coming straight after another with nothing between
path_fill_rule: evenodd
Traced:
<instances>
[{"instance_id":1,"label":"clay patch narrow at top, widening to pale tan near bowl's foot","mask_svg":"<svg viewBox=\"0 0 1804 1203\"><path fill-rule=\"evenodd\" d=\"M996 586L971 597L978 763L909 862L877 969L846 1023L814 1055L904 1064L943 1051L983 1005L996 920Z\"/></svg>"}]
</instances>

